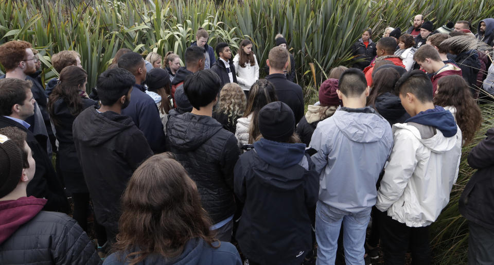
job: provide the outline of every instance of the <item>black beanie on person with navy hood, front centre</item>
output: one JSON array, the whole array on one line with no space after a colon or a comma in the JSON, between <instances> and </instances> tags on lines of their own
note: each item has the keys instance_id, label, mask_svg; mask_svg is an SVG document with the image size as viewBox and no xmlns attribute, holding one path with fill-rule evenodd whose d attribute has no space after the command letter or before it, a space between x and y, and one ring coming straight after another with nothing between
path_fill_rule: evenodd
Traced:
<instances>
[{"instance_id":1,"label":"black beanie on person with navy hood, front centre","mask_svg":"<svg viewBox=\"0 0 494 265\"><path fill-rule=\"evenodd\" d=\"M259 111L259 132L264 139L287 142L295 131L295 116L287 104L271 102Z\"/></svg>"}]
</instances>

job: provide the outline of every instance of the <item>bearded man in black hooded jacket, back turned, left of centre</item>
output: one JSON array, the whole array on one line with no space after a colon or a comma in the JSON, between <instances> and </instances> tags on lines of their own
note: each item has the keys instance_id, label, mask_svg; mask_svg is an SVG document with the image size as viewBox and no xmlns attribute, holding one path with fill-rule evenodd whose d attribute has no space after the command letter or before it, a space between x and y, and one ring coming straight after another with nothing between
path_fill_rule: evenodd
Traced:
<instances>
[{"instance_id":1,"label":"bearded man in black hooded jacket, back turned, left of centre","mask_svg":"<svg viewBox=\"0 0 494 265\"><path fill-rule=\"evenodd\" d=\"M121 114L131 101L133 84L135 78L126 69L102 73L97 81L101 108L85 109L72 127L94 213L105 227L110 244L118 233L120 197L127 181L139 164L153 154L132 118Z\"/></svg>"}]
</instances>

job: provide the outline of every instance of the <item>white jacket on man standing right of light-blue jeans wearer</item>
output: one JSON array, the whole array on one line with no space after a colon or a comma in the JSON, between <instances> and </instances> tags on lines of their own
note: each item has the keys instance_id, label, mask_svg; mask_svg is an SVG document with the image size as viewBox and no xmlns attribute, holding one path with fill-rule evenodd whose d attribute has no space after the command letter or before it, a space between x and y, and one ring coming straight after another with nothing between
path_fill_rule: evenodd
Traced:
<instances>
[{"instance_id":1,"label":"white jacket on man standing right of light-blue jeans wearer","mask_svg":"<svg viewBox=\"0 0 494 265\"><path fill-rule=\"evenodd\" d=\"M462 151L460 128L456 135L445 137L440 130L434 134L432 127L422 126L419 131L418 126L393 125L394 146L376 203L379 210L387 210L388 216L409 227L430 225L448 204Z\"/></svg>"}]
</instances>

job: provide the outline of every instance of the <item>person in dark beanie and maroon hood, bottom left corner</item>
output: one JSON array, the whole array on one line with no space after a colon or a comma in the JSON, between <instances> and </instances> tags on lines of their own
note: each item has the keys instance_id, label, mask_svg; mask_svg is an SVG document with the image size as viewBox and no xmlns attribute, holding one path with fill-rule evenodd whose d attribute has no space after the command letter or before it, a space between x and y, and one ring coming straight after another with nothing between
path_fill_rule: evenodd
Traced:
<instances>
[{"instance_id":1,"label":"person in dark beanie and maroon hood, bottom left corner","mask_svg":"<svg viewBox=\"0 0 494 265\"><path fill-rule=\"evenodd\" d=\"M74 219L42 210L46 199L27 197L36 162L26 136L16 127L0 129L2 264L99 264L93 242Z\"/></svg>"}]
</instances>

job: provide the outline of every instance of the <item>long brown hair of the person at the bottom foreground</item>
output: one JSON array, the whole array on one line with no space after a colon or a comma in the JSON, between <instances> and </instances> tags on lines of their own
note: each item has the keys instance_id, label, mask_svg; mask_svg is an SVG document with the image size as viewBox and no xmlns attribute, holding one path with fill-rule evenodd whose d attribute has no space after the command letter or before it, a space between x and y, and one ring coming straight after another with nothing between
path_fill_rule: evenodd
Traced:
<instances>
[{"instance_id":1,"label":"long brown hair of the person at the bottom foreground","mask_svg":"<svg viewBox=\"0 0 494 265\"><path fill-rule=\"evenodd\" d=\"M210 226L196 184L185 169L173 154L156 154L135 170L123 193L114 250L136 264L151 254L176 257L193 238L218 248Z\"/></svg>"}]
</instances>

